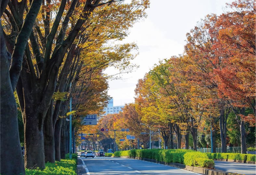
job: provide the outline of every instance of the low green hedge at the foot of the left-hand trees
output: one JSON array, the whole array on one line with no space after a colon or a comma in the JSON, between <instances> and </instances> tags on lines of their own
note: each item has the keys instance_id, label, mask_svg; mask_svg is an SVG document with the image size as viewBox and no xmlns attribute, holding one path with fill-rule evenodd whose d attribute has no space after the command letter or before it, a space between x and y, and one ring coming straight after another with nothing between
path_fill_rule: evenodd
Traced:
<instances>
[{"instance_id":1,"label":"low green hedge at the foot of the left-hand trees","mask_svg":"<svg viewBox=\"0 0 256 175\"><path fill-rule=\"evenodd\" d=\"M25 169L26 175L76 175L75 159L61 159L55 163L47 162L45 169Z\"/></svg>"}]
</instances>

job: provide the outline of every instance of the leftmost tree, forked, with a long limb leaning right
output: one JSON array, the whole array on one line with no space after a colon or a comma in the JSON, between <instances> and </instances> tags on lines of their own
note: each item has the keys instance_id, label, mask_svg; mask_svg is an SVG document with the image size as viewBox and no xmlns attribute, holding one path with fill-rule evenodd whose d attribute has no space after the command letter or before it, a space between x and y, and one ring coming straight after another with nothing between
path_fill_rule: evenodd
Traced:
<instances>
[{"instance_id":1,"label":"leftmost tree, forked, with a long limb leaning right","mask_svg":"<svg viewBox=\"0 0 256 175\"><path fill-rule=\"evenodd\" d=\"M3 12L6 9L8 1L1 1L1 18ZM33 28L33 24L36 18L42 1L33 1L30 9L26 15L24 22L20 20L19 34L15 41L15 47L12 48L12 52L7 51L7 44L3 27L1 23L1 157L0 157L0 173L1 174L25 174L23 157L20 148L19 129L17 120L17 105L14 98L14 90L17 85L23 53L28 41L28 37ZM25 1L18 3L14 2L16 7L20 10L24 10ZM22 15L21 15L22 17ZM17 21L18 22L18 21ZM7 43L7 44L6 44ZM11 64L10 64L11 63ZM10 139L10 136L12 137ZM10 157L10 155L14 155ZM13 166L16 165L16 166Z\"/></svg>"}]
</instances>

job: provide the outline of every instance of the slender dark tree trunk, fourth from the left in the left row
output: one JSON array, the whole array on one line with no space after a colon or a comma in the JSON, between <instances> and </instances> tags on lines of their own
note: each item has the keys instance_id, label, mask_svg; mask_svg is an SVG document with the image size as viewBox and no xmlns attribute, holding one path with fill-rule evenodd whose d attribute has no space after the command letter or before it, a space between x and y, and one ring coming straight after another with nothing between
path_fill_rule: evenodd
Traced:
<instances>
[{"instance_id":1,"label":"slender dark tree trunk, fourth from the left in the left row","mask_svg":"<svg viewBox=\"0 0 256 175\"><path fill-rule=\"evenodd\" d=\"M63 118L59 118L54 129L55 160L61 161L61 128ZM65 140L65 139L64 139ZM65 145L65 144L64 144Z\"/></svg>"}]
</instances>

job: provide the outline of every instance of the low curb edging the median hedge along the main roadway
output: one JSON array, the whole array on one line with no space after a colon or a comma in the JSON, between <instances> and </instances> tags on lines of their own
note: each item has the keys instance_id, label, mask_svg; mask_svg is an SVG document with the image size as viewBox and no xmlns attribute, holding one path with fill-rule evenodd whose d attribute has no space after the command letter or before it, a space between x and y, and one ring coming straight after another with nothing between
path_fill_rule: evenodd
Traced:
<instances>
[{"instance_id":1,"label":"low curb edging the median hedge along the main roadway","mask_svg":"<svg viewBox=\"0 0 256 175\"><path fill-rule=\"evenodd\" d=\"M184 165L181 163L166 163L166 162L160 162L160 161L156 161L155 159L149 159L149 158L129 157L129 156L120 156L120 157L133 158L133 159L144 160L144 161L148 161L148 162L159 163L159 164L163 164L163 165L177 167L180 169L187 169L189 171L193 171L193 172L200 173L200 174L206 174L206 175L230 175L230 174L238 175L237 173L226 172L226 171L222 171L219 169L207 169L207 168L193 167L193 166L188 166L188 165Z\"/></svg>"}]
</instances>

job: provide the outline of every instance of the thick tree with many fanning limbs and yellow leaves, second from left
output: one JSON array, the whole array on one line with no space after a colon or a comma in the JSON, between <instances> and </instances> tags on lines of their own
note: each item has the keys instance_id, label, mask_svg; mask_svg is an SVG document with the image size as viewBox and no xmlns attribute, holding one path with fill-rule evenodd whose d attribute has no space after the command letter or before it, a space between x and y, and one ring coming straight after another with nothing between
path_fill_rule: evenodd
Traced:
<instances>
[{"instance_id":1,"label":"thick tree with many fanning limbs and yellow leaves, second from left","mask_svg":"<svg viewBox=\"0 0 256 175\"><path fill-rule=\"evenodd\" d=\"M110 10L113 12L111 17L114 17L114 14L128 16L128 14L131 14L129 13L131 12L130 9L137 8L133 11L134 16L129 16L135 22L144 15L143 10L148 6L147 1L132 1L128 5L122 5L120 1L115 2L114 0L87 0L84 3L77 0L66 2L66 0L62 0L53 4L51 4L51 1L43 3L41 14L37 16L33 33L30 35L30 44L27 46L21 44L24 47L26 46L26 52L16 89L24 118L26 168L36 168L36 166L44 168L45 166L43 128L47 110L51 105L52 95L56 90L61 69L65 70L65 66L69 67L69 65L65 65L65 62L69 60L66 55L72 53L72 47L74 47L72 44L76 42L76 39L79 39L77 37L80 36L81 31L84 31L85 24L85 26L90 27L92 27L92 24L95 25L94 28L90 29L97 31L96 24L101 23L97 20L94 23L90 21L95 15L93 14L94 10L106 11L112 8ZM39 4L38 7L41 6L41 3ZM22 21L20 17L22 18L23 15L21 14L23 14L24 9L15 9L16 6L12 3L8 5L10 12L6 11L6 16L9 17L9 21L16 21L16 23L11 23L14 31L20 27L20 21ZM23 3L22 5L25 6ZM121 13L121 10L123 13ZM8 14L12 14L12 16ZM51 19L51 17L55 18ZM128 26L132 24L131 22ZM10 37L13 35L7 34L9 33L6 32L6 39L9 39L7 42L11 43ZM11 51L13 46L10 45L8 50ZM50 121L49 118L47 120ZM34 147L38 147L38 149L35 150Z\"/></svg>"}]
</instances>

